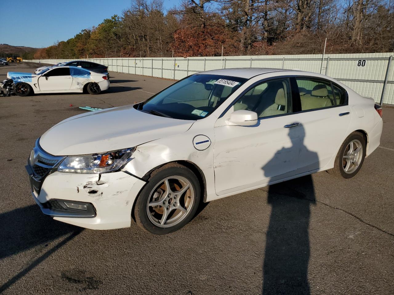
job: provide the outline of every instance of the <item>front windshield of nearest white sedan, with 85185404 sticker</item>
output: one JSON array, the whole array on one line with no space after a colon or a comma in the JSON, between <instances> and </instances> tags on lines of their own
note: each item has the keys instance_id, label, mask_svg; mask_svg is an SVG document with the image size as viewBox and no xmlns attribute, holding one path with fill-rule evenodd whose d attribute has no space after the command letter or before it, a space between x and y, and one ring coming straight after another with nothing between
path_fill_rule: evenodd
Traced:
<instances>
[{"instance_id":1,"label":"front windshield of nearest white sedan, with 85185404 sticker","mask_svg":"<svg viewBox=\"0 0 394 295\"><path fill-rule=\"evenodd\" d=\"M208 117L247 79L195 74L178 81L136 108L157 116L182 120Z\"/></svg>"}]
</instances>

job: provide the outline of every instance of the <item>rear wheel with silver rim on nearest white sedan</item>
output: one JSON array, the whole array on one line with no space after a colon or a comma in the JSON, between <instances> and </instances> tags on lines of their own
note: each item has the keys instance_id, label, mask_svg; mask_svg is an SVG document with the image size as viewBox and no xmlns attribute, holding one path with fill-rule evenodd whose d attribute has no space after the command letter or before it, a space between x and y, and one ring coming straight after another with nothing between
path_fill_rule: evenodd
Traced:
<instances>
[{"instance_id":1,"label":"rear wheel with silver rim on nearest white sedan","mask_svg":"<svg viewBox=\"0 0 394 295\"><path fill-rule=\"evenodd\" d=\"M327 172L337 177L351 178L360 171L365 153L365 138L362 133L355 131L345 139L336 155L334 168Z\"/></svg>"}]
</instances>

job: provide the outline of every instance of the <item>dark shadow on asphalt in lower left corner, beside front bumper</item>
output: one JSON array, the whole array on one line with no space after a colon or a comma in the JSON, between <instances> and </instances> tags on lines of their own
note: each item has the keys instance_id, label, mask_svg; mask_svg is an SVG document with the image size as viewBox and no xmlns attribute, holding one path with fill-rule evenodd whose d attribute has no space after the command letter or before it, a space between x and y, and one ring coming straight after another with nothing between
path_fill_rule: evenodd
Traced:
<instances>
[{"instance_id":1,"label":"dark shadow on asphalt in lower left corner, beside front bumper","mask_svg":"<svg viewBox=\"0 0 394 295\"><path fill-rule=\"evenodd\" d=\"M33 248L41 250L37 253L42 253L28 265L18 266L17 269L24 268L0 286L0 293L83 230L74 225L54 221L44 215L37 205L17 208L0 214L0 224L0 260ZM52 243L59 238L62 239Z\"/></svg>"}]
</instances>

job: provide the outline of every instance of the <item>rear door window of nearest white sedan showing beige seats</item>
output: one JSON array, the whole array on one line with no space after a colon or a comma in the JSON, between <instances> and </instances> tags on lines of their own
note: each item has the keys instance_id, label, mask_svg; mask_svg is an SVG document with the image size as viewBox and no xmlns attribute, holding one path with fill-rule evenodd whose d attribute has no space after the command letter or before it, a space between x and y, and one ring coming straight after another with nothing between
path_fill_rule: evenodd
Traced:
<instances>
[{"instance_id":1,"label":"rear door window of nearest white sedan showing beige seats","mask_svg":"<svg viewBox=\"0 0 394 295\"><path fill-rule=\"evenodd\" d=\"M296 78L301 110L314 110L335 105L331 83L313 78Z\"/></svg>"}]
</instances>

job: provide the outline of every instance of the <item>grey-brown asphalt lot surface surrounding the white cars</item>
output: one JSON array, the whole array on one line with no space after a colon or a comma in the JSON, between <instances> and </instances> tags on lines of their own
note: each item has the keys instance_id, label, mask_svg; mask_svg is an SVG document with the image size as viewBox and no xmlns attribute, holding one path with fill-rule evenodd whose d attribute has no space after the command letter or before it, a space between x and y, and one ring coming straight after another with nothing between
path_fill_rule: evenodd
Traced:
<instances>
[{"instance_id":1,"label":"grey-brown asphalt lot surface surrounding the white cars","mask_svg":"<svg viewBox=\"0 0 394 295\"><path fill-rule=\"evenodd\" d=\"M36 67L2 66L0 79ZM84 112L78 106L126 105L173 83L110 74L100 95L0 97L0 293L394 294L389 107L381 147L353 179L320 172L212 201L166 236L135 223L95 231L44 216L24 171L35 139Z\"/></svg>"}]
</instances>

